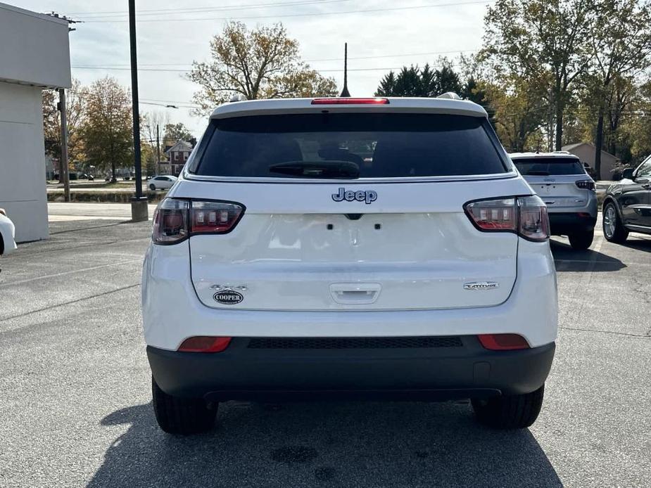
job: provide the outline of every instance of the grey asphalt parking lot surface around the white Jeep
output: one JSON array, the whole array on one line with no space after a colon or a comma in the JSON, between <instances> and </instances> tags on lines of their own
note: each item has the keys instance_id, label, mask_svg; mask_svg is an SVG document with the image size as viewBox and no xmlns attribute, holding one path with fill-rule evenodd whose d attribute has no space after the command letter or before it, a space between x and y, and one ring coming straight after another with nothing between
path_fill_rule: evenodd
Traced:
<instances>
[{"instance_id":1,"label":"grey asphalt parking lot surface around the white Jeep","mask_svg":"<svg viewBox=\"0 0 651 488\"><path fill-rule=\"evenodd\" d=\"M529 430L482 428L464 402L230 402L183 438L151 409L150 228L59 212L0 259L0 487L651 486L650 236L554 238L557 355Z\"/></svg>"}]
</instances>

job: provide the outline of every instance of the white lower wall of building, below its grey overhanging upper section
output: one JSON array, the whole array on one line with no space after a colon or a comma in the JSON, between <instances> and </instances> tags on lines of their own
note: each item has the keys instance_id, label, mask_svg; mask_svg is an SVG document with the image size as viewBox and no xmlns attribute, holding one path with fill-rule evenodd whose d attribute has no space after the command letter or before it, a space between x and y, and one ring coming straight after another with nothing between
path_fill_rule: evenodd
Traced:
<instances>
[{"instance_id":1,"label":"white lower wall of building, below its grey overhanging upper section","mask_svg":"<svg viewBox=\"0 0 651 488\"><path fill-rule=\"evenodd\" d=\"M0 83L0 207L18 242L48 236L41 89Z\"/></svg>"}]
</instances>

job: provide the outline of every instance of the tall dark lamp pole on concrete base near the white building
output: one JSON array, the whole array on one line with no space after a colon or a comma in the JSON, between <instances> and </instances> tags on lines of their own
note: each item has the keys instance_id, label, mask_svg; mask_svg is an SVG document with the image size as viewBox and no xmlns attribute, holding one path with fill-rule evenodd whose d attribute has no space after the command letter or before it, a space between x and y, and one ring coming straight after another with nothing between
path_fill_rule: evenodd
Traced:
<instances>
[{"instance_id":1,"label":"tall dark lamp pole on concrete base near the white building","mask_svg":"<svg viewBox=\"0 0 651 488\"><path fill-rule=\"evenodd\" d=\"M131 51L131 96L133 110L134 166L136 196L131 199L132 221L149 219L147 197L142 195L142 162L140 160L140 110L138 105L138 60L136 54L136 1L129 0L129 44Z\"/></svg>"}]
</instances>

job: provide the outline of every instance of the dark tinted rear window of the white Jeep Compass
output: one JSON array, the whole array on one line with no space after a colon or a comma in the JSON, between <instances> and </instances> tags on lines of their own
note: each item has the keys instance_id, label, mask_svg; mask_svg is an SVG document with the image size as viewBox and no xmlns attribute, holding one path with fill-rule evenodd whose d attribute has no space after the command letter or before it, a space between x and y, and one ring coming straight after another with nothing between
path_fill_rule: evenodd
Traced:
<instances>
[{"instance_id":1,"label":"dark tinted rear window of the white Jeep Compass","mask_svg":"<svg viewBox=\"0 0 651 488\"><path fill-rule=\"evenodd\" d=\"M211 122L191 172L265 178L392 178L507 172L480 117L301 114Z\"/></svg>"}]
</instances>

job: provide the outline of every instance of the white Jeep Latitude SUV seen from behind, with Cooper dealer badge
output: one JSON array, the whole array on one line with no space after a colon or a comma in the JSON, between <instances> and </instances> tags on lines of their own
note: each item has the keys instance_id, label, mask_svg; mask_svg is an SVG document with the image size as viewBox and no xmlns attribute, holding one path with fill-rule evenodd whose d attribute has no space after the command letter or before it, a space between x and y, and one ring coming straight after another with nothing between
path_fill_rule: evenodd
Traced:
<instances>
[{"instance_id":1,"label":"white Jeep Latitude SUV seen from behind, with Cooper dealer badge","mask_svg":"<svg viewBox=\"0 0 651 488\"><path fill-rule=\"evenodd\" d=\"M142 307L166 432L232 399L472 399L531 425L555 350L545 204L442 98L217 108L158 206Z\"/></svg>"}]
</instances>

